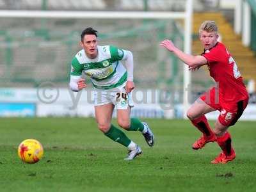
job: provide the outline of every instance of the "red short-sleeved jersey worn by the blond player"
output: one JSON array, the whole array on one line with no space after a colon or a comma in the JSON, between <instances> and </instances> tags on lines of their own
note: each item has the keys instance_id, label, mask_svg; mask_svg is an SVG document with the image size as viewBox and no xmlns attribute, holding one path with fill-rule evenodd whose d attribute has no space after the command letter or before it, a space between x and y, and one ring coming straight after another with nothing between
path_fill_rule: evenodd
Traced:
<instances>
[{"instance_id":1,"label":"red short-sleeved jersey worn by the blond player","mask_svg":"<svg viewBox=\"0 0 256 192\"><path fill-rule=\"evenodd\" d=\"M222 102L248 99L243 77L225 45L217 42L214 47L205 50L202 56L208 61L210 76L218 83Z\"/></svg>"}]
</instances>

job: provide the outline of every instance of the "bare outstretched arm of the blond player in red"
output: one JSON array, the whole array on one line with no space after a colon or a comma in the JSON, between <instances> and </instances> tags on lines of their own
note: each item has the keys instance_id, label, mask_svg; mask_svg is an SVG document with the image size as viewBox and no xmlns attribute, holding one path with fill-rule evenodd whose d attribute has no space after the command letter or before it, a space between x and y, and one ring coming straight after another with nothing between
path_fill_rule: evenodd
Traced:
<instances>
[{"instance_id":1,"label":"bare outstretched arm of the blond player in red","mask_svg":"<svg viewBox=\"0 0 256 192\"><path fill-rule=\"evenodd\" d=\"M207 64L207 60L205 59L204 56L199 56L199 55L193 56L190 54L186 54L185 52L180 51L179 48L175 47L175 45L171 40L163 40L163 42L160 42L160 45L166 48L168 51L173 52L180 60L186 63L189 66L189 68L191 68L192 70Z\"/></svg>"}]
</instances>

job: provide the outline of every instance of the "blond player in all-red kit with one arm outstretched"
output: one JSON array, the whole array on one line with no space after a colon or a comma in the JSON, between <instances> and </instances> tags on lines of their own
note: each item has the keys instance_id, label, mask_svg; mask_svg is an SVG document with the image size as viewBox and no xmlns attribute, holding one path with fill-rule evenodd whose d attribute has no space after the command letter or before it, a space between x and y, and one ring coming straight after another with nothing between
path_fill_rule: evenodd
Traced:
<instances>
[{"instance_id":1,"label":"blond player in all-red kit with one arm outstretched","mask_svg":"<svg viewBox=\"0 0 256 192\"><path fill-rule=\"evenodd\" d=\"M227 129L236 124L243 114L249 96L236 61L225 45L218 42L218 27L215 22L205 20L200 26L199 36L204 52L198 56L180 51L170 40L164 40L160 45L184 61L189 66L189 70L196 70L202 65L208 66L210 76L216 81L216 86L198 98L187 112L189 120L202 132L202 136L192 148L198 150L206 143L216 141L222 152L211 163L227 163L236 158ZM216 110L220 111L220 115L212 130L205 114Z\"/></svg>"}]
</instances>

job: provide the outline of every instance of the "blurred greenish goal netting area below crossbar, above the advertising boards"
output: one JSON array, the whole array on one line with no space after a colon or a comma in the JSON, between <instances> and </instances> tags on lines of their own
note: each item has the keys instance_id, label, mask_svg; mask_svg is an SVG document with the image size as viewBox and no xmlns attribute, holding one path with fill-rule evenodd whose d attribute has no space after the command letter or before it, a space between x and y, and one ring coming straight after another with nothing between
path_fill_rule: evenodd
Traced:
<instances>
[{"instance_id":1,"label":"blurred greenish goal netting area below crossbar, above the advertising boards","mask_svg":"<svg viewBox=\"0 0 256 192\"><path fill-rule=\"evenodd\" d=\"M3 24L3 25L2 25ZM134 54L134 79L140 88L182 89L183 66L159 42L172 38L182 48L174 20L1 19L0 86L36 86L52 81L67 86L70 61L81 31L99 30L99 45L116 45Z\"/></svg>"}]
</instances>

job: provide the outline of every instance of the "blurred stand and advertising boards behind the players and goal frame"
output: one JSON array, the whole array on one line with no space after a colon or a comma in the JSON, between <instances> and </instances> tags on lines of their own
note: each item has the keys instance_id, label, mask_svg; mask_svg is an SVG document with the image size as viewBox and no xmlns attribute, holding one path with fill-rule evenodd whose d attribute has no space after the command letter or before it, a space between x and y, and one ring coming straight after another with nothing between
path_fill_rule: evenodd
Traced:
<instances>
[{"instance_id":1,"label":"blurred stand and advertising boards behind the players and goal frame","mask_svg":"<svg viewBox=\"0 0 256 192\"><path fill-rule=\"evenodd\" d=\"M184 65L159 42L169 38L184 49L184 19L68 18L65 13L187 13L187 1L0 0L0 116L93 116L92 85L78 94L68 91L70 62L81 50L81 31L93 27L99 31L99 45L115 45L134 55L132 115L182 118ZM20 11L26 17L19 16ZM62 18L36 17L30 11L58 11ZM194 0L191 17L193 54L203 51L198 40L202 21L218 24L220 41L236 60L251 96L243 118L255 120L256 1ZM189 102L212 85L206 67L192 72Z\"/></svg>"}]
</instances>

